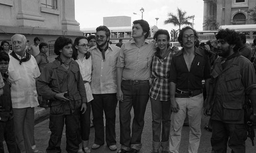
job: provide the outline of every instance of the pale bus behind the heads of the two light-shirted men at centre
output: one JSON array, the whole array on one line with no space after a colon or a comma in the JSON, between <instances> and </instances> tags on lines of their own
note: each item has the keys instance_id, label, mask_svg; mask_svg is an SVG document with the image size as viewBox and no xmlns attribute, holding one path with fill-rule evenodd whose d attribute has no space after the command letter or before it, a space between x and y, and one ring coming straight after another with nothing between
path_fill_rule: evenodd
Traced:
<instances>
[{"instance_id":1,"label":"pale bus behind the heads of the two light-shirted men at centre","mask_svg":"<svg viewBox=\"0 0 256 153\"><path fill-rule=\"evenodd\" d=\"M110 41L113 44L119 42L119 39L123 39L123 42L129 41L132 39L132 27L108 27L110 30ZM150 28L150 34L148 35L147 39L155 42L153 36L155 32L158 30L156 26ZM96 28L83 28L81 29L84 36L89 35L96 35Z\"/></svg>"}]
</instances>

